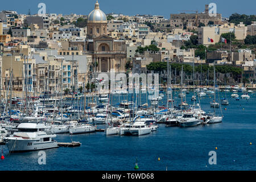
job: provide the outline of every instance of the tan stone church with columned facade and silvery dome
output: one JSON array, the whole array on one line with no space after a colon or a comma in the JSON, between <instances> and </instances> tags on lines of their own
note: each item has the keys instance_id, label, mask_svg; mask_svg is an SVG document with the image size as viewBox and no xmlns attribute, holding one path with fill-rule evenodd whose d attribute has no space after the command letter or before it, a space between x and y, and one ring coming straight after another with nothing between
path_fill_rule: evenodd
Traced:
<instances>
[{"instance_id":1,"label":"tan stone church with columned facade and silvery dome","mask_svg":"<svg viewBox=\"0 0 256 182\"><path fill-rule=\"evenodd\" d=\"M115 73L125 72L125 41L108 36L108 20L106 14L100 10L98 1L94 10L88 15L86 44L86 54L92 55L90 68L96 61L99 73L108 73L111 69L114 69Z\"/></svg>"}]
</instances>

